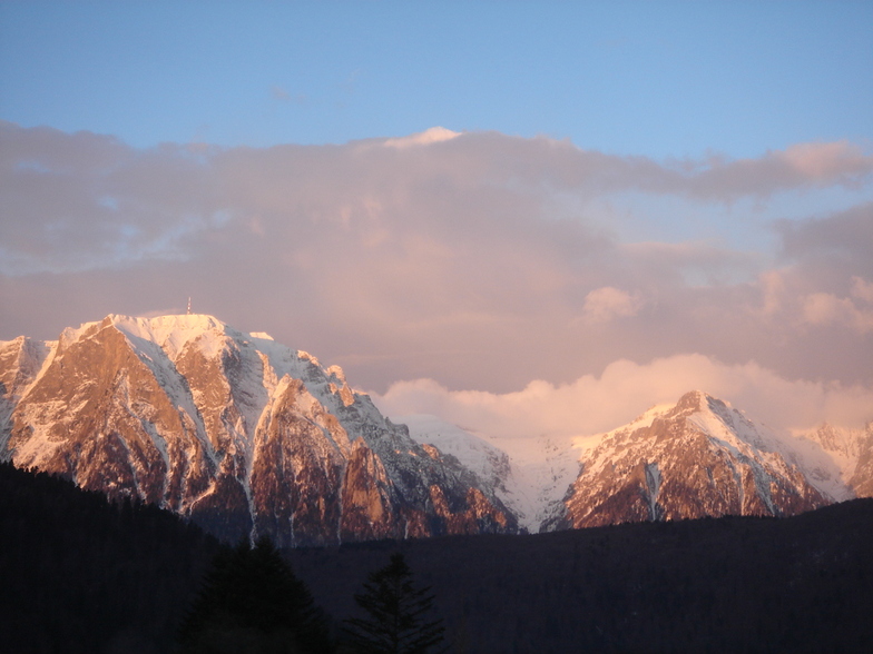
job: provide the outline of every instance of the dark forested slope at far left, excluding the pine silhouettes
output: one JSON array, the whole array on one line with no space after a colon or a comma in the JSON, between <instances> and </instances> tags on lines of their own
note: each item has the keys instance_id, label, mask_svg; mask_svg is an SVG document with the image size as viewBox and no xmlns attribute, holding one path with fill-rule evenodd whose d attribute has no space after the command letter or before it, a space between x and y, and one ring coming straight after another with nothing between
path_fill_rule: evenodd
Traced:
<instances>
[{"instance_id":1,"label":"dark forested slope at far left, excluding the pine silhouettes","mask_svg":"<svg viewBox=\"0 0 873 654\"><path fill-rule=\"evenodd\" d=\"M169 652L218 551L168 512L0 464L0 651Z\"/></svg>"}]
</instances>

